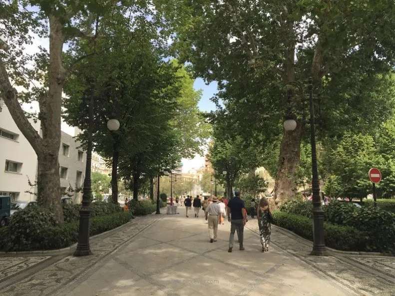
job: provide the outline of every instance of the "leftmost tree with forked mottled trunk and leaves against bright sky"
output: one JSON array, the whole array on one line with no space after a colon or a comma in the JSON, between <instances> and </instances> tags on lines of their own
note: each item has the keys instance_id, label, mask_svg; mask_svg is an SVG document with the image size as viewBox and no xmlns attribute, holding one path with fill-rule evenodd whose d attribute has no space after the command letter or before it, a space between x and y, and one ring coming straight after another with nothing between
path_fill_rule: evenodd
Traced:
<instances>
[{"instance_id":1,"label":"leftmost tree with forked mottled trunk and leaves against bright sky","mask_svg":"<svg viewBox=\"0 0 395 296\"><path fill-rule=\"evenodd\" d=\"M0 93L18 129L29 141L37 155L37 201L51 209L56 220L63 223L60 195L58 151L60 147L60 123L62 90L65 79L74 63L64 59L62 51L66 43L84 39L96 42L105 20L126 19L123 15L133 8L125 2L83 0L70 1L7 1L1 2L1 22L5 36L11 37L6 52L0 55ZM2 7L1 7L2 8ZM110 17L110 18L109 18ZM124 23L127 23L125 21ZM119 23L113 23L117 26ZM31 42L31 33L49 39L49 51L40 47L40 52L28 55L23 47ZM69 53L72 49L69 50ZM79 59L75 59L77 62ZM32 66L29 66L29 64ZM26 91L17 92L16 86ZM28 121L20 102L37 101L41 134Z\"/></svg>"}]
</instances>

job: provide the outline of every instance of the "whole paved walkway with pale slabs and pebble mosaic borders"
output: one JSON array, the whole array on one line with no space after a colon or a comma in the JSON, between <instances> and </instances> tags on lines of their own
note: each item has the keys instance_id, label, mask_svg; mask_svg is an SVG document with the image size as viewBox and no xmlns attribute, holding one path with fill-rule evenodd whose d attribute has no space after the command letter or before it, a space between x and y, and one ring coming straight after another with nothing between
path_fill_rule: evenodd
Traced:
<instances>
[{"instance_id":1,"label":"whole paved walkway with pale slabs and pebble mosaic borders","mask_svg":"<svg viewBox=\"0 0 395 296\"><path fill-rule=\"evenodd\" d=\"M92 241L91 257L13 257L14 265L0 258L0 295L395 296L395 258L313 257L310 242L276 227L262 254L254 219L244 232L246 250L235 246L230 254L227 221L210 244L203 215L186 218L184 209L135 219Z\"/></svg>"}]
</instances>

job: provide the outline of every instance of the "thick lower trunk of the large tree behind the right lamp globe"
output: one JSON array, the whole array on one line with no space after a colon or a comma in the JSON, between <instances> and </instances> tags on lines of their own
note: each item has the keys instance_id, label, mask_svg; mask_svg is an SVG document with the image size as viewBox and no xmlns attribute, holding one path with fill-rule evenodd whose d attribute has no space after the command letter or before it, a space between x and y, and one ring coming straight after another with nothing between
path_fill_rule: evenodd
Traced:
<instances>
[{"instance_id":1,"label":"thick lower trunk of the large tree behind the right lamp globe","mask_svg":"<svg viewBox=\"0 0 395 296\"><path fill-rule=\"evenodd\" d=\"M294 131L284 130L284 136L281 142L278 172L274 184L276 204L281 204L288 198L295 198L295 172L299 166L303 127L303 123L298 120L297 127Z\"/></svg>"}]
</instances>

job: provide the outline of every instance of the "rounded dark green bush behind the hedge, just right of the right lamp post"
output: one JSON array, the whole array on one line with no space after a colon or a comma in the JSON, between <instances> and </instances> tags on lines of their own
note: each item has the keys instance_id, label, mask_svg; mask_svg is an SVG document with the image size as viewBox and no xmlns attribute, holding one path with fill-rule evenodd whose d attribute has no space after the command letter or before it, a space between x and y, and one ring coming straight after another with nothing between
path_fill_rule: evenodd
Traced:
<instances>
[{"instance_id":1,"label":"rounded dark green bush behind the hedge, just right of the right lamp post","mask_svg":"<svg viewBox=\"0 0 395 296\"><path fill-rule=\"evenodd\" d=\"M355 225L358 208L353 203L332 201L324 207L325 220L340 225Z\"/></svg>"}]
</instances>

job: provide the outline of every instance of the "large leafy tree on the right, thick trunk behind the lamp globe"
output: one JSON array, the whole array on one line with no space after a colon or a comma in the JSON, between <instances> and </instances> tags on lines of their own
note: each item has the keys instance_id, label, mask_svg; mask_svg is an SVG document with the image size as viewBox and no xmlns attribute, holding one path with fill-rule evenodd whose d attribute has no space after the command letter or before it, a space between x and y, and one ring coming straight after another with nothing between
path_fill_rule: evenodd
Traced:
<instances>
[{"instance_id":1,"label":"large leafy tree on the right, thick trunk behind the lamp globe","mask_svg":"<svg viewBox=\"0 0 395 296\"><path fill-rule=\"evenodd\" d=\"M207 82L217 81L217 100L241 107L232 110L238 110L238 118L244 118L256 131L262 125L266 131L279 129L286 106L282 85L306 81L308 76L313 77L315 92L320 94L317 111L326 110L317 123L330 129L331 125L325 124L331 118L345 127L341 119L348 117L355 124L355 118L360 116L354 116L353 108L348 106L358 107L361 102L360 85L364 86L364 81L370 84L377 73L387 73L394 64L395 39L389 34L395 19L394 3L331 0L155 3L172 20L171 29L177 31L173 35L175 55L181 61L189 61L196 76ZM376 20L383 17L389 21L379 26ZM356 76L360 79L356 80ZM363 105L373 105L377 99L364 96ZM332 108L338 102L340 106ZM384 106L387 109L388 104ZM358 114L360 109L356 110ZM296 130L283 131L276 174L278 202L295 196L295 172L306 128L303 110L299 113L302 114L297 114ZM321 116L320 112L316 114Z\"/></svg>"}]
</instances>

